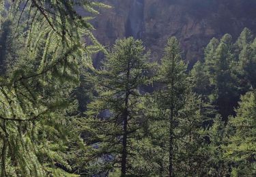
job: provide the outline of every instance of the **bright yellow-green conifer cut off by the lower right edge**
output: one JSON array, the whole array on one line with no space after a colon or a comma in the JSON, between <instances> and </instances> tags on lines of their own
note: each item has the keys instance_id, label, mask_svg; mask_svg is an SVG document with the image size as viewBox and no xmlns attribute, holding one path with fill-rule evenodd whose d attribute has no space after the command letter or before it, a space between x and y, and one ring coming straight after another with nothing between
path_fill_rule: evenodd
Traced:
<instances>
[{"instance_id":1,"label":"bright yellow-green conifer cut off by the lower right edge","mask_svg":"<svg viewBox=\"0 0 256 177\"><path fill-rule=\"evenodd\" d=\"M233 161L232 176L256 175L255 91L241 97L236 116L229 120L229 144L225 155Z\"/></svg>"}]
</instances>

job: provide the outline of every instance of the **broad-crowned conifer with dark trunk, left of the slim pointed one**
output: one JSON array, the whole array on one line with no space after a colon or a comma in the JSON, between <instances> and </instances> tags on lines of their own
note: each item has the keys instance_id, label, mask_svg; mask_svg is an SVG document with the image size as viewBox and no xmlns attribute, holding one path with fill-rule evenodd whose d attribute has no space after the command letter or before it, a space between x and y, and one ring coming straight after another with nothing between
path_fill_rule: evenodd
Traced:
<instances>
[{"instance_id":1,"label":"broad-crowned conifer with dark trunk, left of the slim pointed one","mask_svg":"<svg viewBox=\"0 0 256 177\"><path fill-rule=\"evenodd\" d=\"M120 167L121 176L132 174L133 147L147 121L140 88L150 83L152 65L142 42L129 37L117 40L102 69L91 77L98 96L88 106L85 131L89 132L87 158L96 165L94 173Z\"/></svg>"}]
</instances>

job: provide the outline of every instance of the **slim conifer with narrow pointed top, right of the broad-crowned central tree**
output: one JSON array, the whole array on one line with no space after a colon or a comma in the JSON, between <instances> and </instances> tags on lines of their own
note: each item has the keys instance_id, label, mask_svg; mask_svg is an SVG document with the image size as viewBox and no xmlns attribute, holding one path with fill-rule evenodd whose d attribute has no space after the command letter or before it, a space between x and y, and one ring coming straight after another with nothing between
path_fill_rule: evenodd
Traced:
<instances>
[{"instance_id":1,"label":"slim conifer with narrow pointed top, right of the broad-crowned central tree","mask_svg":"<svg viewBox=\"0 0 256 177\"><path fill-rule=\"evenodd\" d=\"M203 143L202 101L193 93L193 82L186 69L180 44L171 37L158 71L160 89L155 95L159 118L152 125L161 127L156 131L162 135L156 144L162 148L162 161L158 162L158 174L162 176L194 176L197 171L193 174L191 169L200 165L197 150Z\"/></svg>"}]
</instances>

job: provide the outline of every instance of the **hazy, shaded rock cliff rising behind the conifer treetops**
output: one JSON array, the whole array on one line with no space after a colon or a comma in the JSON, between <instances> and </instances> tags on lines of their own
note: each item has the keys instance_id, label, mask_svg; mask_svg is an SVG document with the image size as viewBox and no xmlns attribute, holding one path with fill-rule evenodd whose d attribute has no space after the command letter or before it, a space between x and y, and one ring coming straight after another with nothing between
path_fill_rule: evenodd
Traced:
<instances>
[{"instance_id":1,"label":"hazy, shaded rock cliff rising behind the conifer treetops","mask_svg":"<svg viewBox=\"0 0 256 177\"><path fill-rule=\"evenodd\" d=\"M170 36L180 39L184 58L192 65L202 59L212 37L237 37L244 27L256 31L255 0L101 1L112 8L100 10L93 21L98 40L111 46L117 38L142 39L154 60L160 59Z\"/></svg>"}]
</instances>

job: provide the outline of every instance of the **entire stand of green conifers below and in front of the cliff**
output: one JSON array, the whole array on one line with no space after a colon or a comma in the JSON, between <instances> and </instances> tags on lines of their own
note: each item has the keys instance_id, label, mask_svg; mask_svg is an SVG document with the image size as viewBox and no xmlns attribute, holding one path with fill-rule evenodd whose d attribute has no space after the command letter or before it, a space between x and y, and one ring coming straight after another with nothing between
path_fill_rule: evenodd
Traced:
<instances>
[{"instance_id":1,"label":"entire stand of green conifers below and in front of the cliff","mask_svg":"<svg viewBox=\"0 0 256 177\"><path fill-rule=\"evenodd\" d=\"M190 68L175 36L159 61L136 37L100 44L104 3L0 3L1 176L256 176L250 29Z\"/></svg>"}]
</instances>

